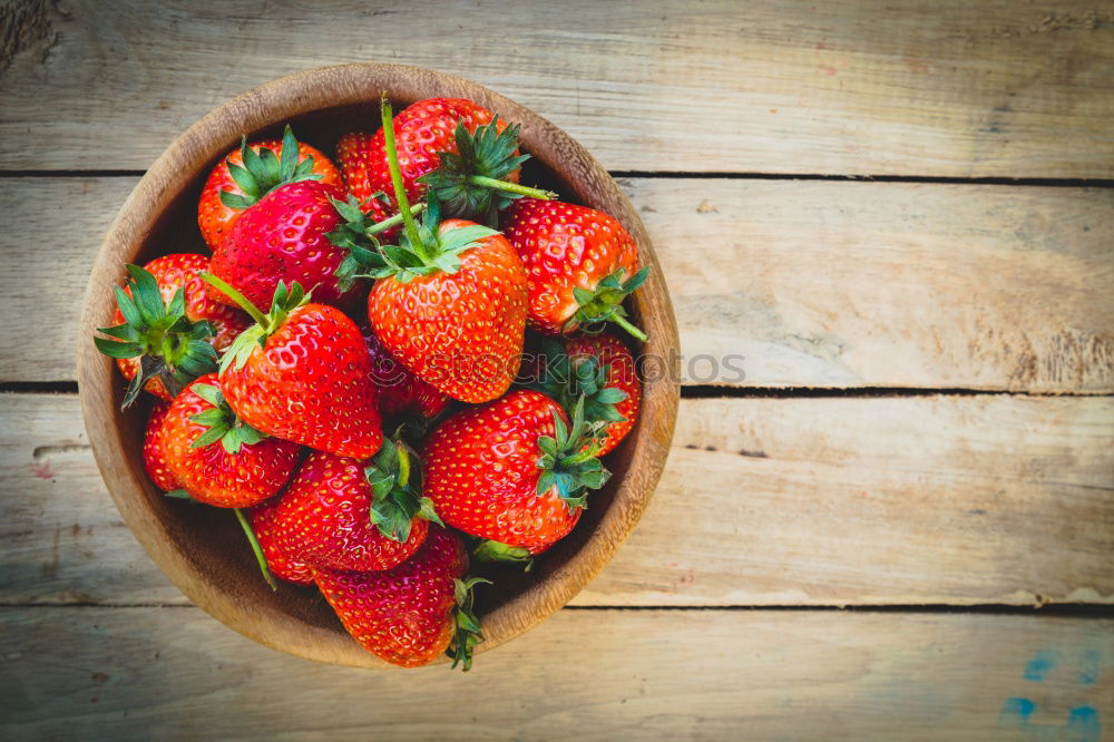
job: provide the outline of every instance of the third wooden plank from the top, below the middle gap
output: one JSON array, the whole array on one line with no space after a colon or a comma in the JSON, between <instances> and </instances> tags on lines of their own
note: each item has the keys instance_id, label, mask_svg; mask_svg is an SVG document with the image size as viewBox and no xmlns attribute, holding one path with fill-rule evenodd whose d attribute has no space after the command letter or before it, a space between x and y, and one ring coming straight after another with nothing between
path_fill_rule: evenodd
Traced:
<instances>
[{"instance_id":1,"label":"third wooden plank from the top, below the middle gap","mask_svg":"<svg viewBox=\"0 0 1114 742\"><path fill-rule=\"evenodd\" d=\"M69 396L0 397L0 603L185 604ZM683 400L597 606L1114 603L1114 398Z\"/></svg>"}]
</instances>

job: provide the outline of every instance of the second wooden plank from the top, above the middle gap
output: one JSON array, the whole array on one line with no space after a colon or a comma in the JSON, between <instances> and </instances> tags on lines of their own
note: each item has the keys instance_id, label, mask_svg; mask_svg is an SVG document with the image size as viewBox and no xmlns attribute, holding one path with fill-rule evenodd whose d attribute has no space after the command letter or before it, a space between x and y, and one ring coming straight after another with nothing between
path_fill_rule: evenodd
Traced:
<instances>
[{"instance_id":1,"label":"second wooden plank from the top, above the middle gap","mask_svg":"<svg viewBox=\"0 0 1114 742\"><path fill-rule=\"evenodd\" d=\"M35 332L0 338L0 381L74 379L95 246L134 185L0 179L0 209L27 225L0 235L0 310L36 318ZM625 187L673 293L685 383L1114 391L1114 189ZM743 378L703 354L742 355Z\"/></svg>"}]
</instances>

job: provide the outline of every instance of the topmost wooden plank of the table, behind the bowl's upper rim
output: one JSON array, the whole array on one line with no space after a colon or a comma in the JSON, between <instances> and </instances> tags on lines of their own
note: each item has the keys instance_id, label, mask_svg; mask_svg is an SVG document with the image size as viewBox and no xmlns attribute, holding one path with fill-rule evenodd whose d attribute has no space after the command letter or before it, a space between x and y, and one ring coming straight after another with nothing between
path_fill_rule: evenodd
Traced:
<instances>
[{"instance_id":1,"label":"topmost wooden plank of the table, behind the bowl's upper rim","mask_svg":"<svg viewBox=\"0 0 1114 742\"><path fill-rule=\"evenodd\" d=\"M612 169L1114 174L1106 0L12 7L0 168L144 168L234 94L372 60L487 85Z\"/></svg>"}]
</instances>

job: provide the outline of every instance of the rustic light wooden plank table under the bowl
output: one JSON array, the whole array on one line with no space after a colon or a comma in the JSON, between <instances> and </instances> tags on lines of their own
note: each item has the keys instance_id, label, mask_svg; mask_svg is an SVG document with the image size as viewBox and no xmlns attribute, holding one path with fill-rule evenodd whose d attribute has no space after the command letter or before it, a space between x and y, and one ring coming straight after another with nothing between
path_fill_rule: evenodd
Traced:
<instances>
[{"instance_id":1,"label":"rustic light wooden plank table under the bowl","mask_svg":"<svg viewBox=\"0 0 1114 742\"><path fill-rule=\"evenodd\" d=\"M1114 724L1108 0L8 0L0 39L0 736ZM687 359L744 358L687 367L637 531L469 675L314 665L192 607L78 413L86 276L143 168L232 95L344 61L564 127L638 207Z\"/></svg>"}]
</instances>

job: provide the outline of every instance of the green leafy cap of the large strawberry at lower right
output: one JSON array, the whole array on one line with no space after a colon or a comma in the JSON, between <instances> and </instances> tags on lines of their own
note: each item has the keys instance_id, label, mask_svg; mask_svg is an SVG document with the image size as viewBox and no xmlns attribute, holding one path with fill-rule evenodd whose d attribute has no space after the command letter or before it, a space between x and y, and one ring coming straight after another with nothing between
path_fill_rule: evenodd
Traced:
<instances>
[{"instance_id":1,"label":"green leafy cap of the large strawberry at lower right","mask_svg":"<svg viewBox=\"0 0 1114 742\"><path fill-rule=\"evenodd\" d=\"M554 410L555 435L538 439L541 456L537 467L538 496L557 489L557 496L571 512L586 507L588 490L603 487L612 473L600 463L597 452L602 437L602 423L589 423L584 417L584 397L573 406L573 424L566 426L560 414Z\"/></svg>"}]
</instances>

